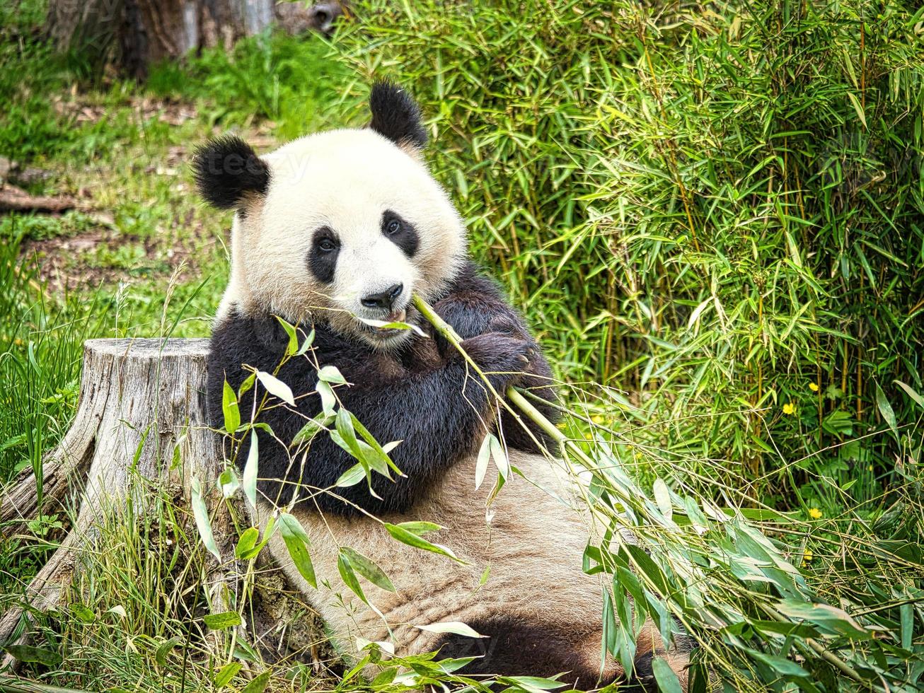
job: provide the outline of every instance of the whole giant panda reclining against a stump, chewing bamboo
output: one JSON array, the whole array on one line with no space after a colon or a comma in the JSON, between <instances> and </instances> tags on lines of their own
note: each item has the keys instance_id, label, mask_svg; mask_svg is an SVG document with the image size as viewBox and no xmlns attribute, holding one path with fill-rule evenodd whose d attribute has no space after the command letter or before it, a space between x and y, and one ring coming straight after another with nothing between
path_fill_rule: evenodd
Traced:
<instances>
[{"instance_id":1,"label":"whole giant panda reclining against a stump, chewing bamboo","mask_svg":"<svg viewBox=\"0 0 924 693\"><path fill-rule=\"evenodd\" d=\"M475 657L466 675L562 675L589 689L623 677L602 651L602 584L582 571L592 528L553 444L499 408L456 349L414 309L418 294L464 340L498 393L530 388L551 403L550 370L540 346L498 286L468 257L466 227L422 151L426 130L407 91L380 82L368 127L291 141L257 156L225 136L198 152L194 171L205 201L236 211L230 279L213 323L208 400L222 422L225 381L235 390L251 371L274 372L289 335L279 318L313 331L311 349L276 376L298 396L264 410L259 431L254 520L290 510L310 537L318 589L299 574L279 533L269 546L304 590L345 656L357 638L390 642L397 655L439 650ZM418 330L377 329L363 320L401 321ZM334 483L356 460L326 432L307 453L288 445L322 411L314 392L319 366L346 379L336 388L380 443L400 441L391 458L405 476L373 474ZM239 402L252 411L254 390ZM555 418L552 404L540 407ZM505 442L517 474L489 504L492 484L475 488L486 432ZM238 464L247 458L246 441ZM374 491L374 494L371 492ZM442 527L427 540L459 561L395 541L382 522L426 520ZM363 580L376 609L347 590L337 555L350 547L380 565L396 591ZM485 577L487 577L485 581ZM482 584L483 583L483 584ZM484 638L418 626L461 622ZM664 651L652 626L638 637L636 672L650 676L664 657L686 686L687 656Z\"/></svg>"}]
</instances>

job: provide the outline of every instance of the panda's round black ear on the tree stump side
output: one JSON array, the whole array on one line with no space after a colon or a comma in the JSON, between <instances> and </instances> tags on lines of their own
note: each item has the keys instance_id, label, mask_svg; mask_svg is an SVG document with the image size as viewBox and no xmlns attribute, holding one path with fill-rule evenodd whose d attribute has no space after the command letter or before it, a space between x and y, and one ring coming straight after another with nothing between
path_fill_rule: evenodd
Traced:
<instances>
[{"instance_id":1,"label":"panda's round black ear on the tree stump side","mask_svg":"<svg viewBox=\"0 0 924 693\"><path fill-rule=\"evenodd\" d=\"M233 135L203 145L192 168L202 198L222 210L237 207L249 195L262 195L270 187L270 167L247 142Z\"/></svg>"}]
</instances>

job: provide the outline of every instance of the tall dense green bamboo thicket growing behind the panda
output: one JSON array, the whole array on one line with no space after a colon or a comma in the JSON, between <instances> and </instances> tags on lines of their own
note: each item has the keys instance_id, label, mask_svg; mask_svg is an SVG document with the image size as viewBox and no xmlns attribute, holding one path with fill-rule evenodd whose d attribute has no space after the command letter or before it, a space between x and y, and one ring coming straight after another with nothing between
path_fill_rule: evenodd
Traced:
<instances>
[{"instance_id":1,"label":"tall dense green bamboo thicket growing behind the panda","mask_svg":"<svg viewBox=\"0 0 924 693\"><path fill-rule=\"evenodd\" d=\"M422 100L476 255L565 374L625 392L638 440L730 460L695 466L759 496L820 497L807 468L881 491L919 417L895 382L924 389L921 10L358 14L341 50Z\"/></svg>"}]
</instances>

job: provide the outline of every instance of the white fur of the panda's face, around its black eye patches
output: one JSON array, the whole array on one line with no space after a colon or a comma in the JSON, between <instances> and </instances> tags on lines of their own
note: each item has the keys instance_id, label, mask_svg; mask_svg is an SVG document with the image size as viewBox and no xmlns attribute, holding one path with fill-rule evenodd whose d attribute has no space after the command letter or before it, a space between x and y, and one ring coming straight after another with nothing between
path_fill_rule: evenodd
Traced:
<instances>
[{"instance_id":1,"label":"white fur of the panda's face, around its black eye patches","mask_svg":"<svg viewBox=\"0 0 924 693\"><path fill-rule=\"evenodd\" d=\"M269 190L235 215L231 279L219 320L234 305L290 322L331 310L325 318L348 332L359 327L351 314L383 318L362 306L362 296L403 284L399 300L406 305L412 293L431 298L456 274L465 257L465 226L426 166L391 140L370 129L334 130L262 158L270 165ZM413 258L383 236L386 210L417 229ZM318 282L308 265L321 226L341 242L330 285Z\"/></svg>"}]
</instances>

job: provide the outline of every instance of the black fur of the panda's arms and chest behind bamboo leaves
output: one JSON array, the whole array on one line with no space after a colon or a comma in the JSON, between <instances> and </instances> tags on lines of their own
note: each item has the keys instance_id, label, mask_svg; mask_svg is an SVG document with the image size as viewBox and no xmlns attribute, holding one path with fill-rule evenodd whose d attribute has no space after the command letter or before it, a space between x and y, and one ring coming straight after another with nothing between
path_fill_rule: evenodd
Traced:
<instances>
[{"instance_id":1,"label":"black fur of the panda's arms and chest behind bamboo leaves","mask_svg":"<svg viewBox=\"0 0 924 693\"><path fill-rule=\"evenodd\" d=\"M434 304L465 340L464 347L484 371L492 371L492 386L504 392L508 384L535 388L546 399L553 399L548 387L548 363L539 346L529 336L516 311L510 308L490 280L479 276L470 265L465 268L446 296ZM307 333L310 325L302 329ZM441 470L462 456L473 453L484 437L482 421L492 422L487 393L456 350L442 339L415 335L395 354L373 351L338 334L322 323L315 329L314 354L320 364L333 364L346 377L349 386L337 389L343 406L351 411L381 444L404 441L391 452L395 464L407 477L395 481L373 474L373 488L381 500L371 496L367 484L318 493L356 464L356 460L322 432L310 444L301 468L289 468L286 448L267 432L258 431L260 440L259 488L271 500L286 503L295 486L305 488L299 498L313 494L310 503L322 511L346 515L358 512L358 505L372 513L405 511ZM261 371L274 371L288 344L288 336L273 316L234 314L213 332L209 357L209 410L213 425L222 425L223 383L237 387L248 375L241 364ZM522 371L527 371L524 374ZM314 390L316 369L307 357L291 359L278 373L295 395ZM241 418L249 420L251 390L241 398ZM263 411L260 420L270 425L274 435L288 444L302 428L306 418L322 410L318 395L297 399L298 413L286 407ZM540 407L555 419L551 407ZM505 441L511 447L534 451L529 433L517 423L502 419ZM549 449L551 442L533 431ZM238 451L237 462L247 459L247 445Z\"/></svg>"}]
</instances>

